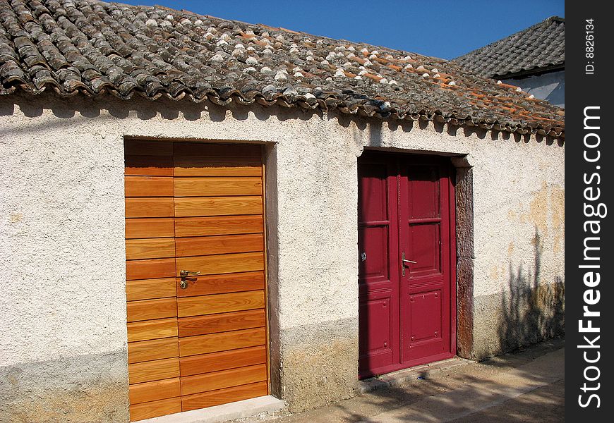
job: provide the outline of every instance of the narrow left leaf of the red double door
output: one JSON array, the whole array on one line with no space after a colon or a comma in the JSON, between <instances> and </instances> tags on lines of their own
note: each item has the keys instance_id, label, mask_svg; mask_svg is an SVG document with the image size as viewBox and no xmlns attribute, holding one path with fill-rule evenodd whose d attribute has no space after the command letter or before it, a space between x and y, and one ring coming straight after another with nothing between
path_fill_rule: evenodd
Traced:
<instances>
[{"instance_id":1,"label":"narrow left leaf of the red double door","mask_svg":"<svg viewBox=\"0 0 614 423\"><path fill-rule=\"evenodd\" d=\"M359 369L390 367L399 360L397 210L394 169L374 159L359 166Z\"/></svg>"}]
</instances>

